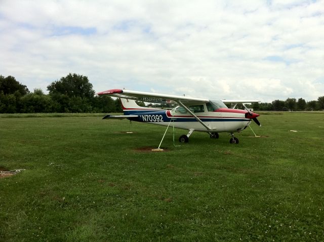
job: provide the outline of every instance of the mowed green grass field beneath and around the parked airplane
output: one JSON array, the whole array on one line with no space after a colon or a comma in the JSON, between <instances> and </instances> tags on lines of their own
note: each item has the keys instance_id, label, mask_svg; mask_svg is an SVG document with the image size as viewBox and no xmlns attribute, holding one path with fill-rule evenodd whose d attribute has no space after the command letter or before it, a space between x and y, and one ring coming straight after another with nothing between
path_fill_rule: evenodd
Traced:
<instances>
[{"instance_id":1,"label":"mowed green grass field beneath and around the parked airplane","mask_svg":"<svg viewBox=\"0 0 324 242\"><path fill-rule=\"evenodd\" d=\"M151 152L165 127L0 116L0 241L323 241L324 113L259 120Z\"/></svg>"}]
</instances>

